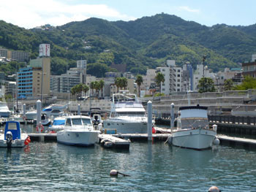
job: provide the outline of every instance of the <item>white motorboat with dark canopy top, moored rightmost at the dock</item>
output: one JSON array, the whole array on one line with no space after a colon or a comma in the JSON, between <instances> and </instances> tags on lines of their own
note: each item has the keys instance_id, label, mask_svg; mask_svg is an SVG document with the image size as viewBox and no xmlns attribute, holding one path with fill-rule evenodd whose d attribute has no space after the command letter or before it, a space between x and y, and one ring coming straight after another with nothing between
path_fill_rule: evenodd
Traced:
<instances>
[{"instance_id":1,"label":"white motorboat with dark canopy top, moored rightmost at the dock","mask_svg":"<svg viewBox=\"0 0 256 192\"><path fill-rule=\"evenodd\" d=\"M168 138L170 144L195 150L208 149L214 145L217 129L208 126L207 107L180 107L176 121L177 129Z\"/></svg>"}]
</instances>

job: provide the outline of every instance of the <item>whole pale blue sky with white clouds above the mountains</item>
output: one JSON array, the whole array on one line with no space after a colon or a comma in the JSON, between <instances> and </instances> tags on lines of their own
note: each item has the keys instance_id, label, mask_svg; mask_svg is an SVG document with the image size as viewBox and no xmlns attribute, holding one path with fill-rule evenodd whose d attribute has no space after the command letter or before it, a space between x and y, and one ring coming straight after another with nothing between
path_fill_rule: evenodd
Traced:
<instances>
[{"instance_id":1,"label":"whole pale blue sky with white clouds above the mountains","mask_svg":"<svg viewBox=\"0 0 256 192\"><path fill-rule=\"evenodd\" d=\"M136 20L158 13L213 26L256 23L255 0L1 0L0 20L23 28L102 18Z\"/></svg>"}]
</instances>

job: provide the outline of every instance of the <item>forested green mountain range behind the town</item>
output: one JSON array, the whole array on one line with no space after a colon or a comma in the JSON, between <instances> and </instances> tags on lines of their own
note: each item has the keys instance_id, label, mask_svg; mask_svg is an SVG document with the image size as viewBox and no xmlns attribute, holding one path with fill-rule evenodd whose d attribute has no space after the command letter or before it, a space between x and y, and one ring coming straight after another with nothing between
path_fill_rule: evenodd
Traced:
<instances>
[{"instance_id":1,"label":"forested green mountain range behind the town","mask_svg":"<svg viewBox=\"0 0 256 192\"><path fill-rule=\"evenodd\" d=\"M147 68L176 60L202 63L214 72L236 67L256 53L256 24L252 26L202 26L175 15L157 14L138 20L110 22L90 18L67 23L52 30L34 31L0 21L0 46L38 55L41 43L50 43L52 74L88 61L88 72L102 77L115 71L113 64L125 64L127 72L145 74ZM1 66L0 66L1 67ZM100 69L99 69L100 68Z\"/></svg>"}]
</instances>

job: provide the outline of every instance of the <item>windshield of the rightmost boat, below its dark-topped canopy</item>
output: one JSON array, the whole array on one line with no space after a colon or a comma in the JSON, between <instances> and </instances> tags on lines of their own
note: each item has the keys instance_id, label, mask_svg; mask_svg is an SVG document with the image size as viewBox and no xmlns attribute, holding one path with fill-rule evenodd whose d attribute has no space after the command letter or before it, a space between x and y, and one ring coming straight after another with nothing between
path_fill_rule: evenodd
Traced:
<instances>
[{"instance_id":1,"label":"windshield of the rightmost boat, below its dark-topped canopy","mask_svg":"<svg viewBox=\"0 0 256 192\"><path fill-rule=\"evenodd\" d=\"M208 119L183 118L181 128L208 128Z\"/></svg>"}]
</instances>

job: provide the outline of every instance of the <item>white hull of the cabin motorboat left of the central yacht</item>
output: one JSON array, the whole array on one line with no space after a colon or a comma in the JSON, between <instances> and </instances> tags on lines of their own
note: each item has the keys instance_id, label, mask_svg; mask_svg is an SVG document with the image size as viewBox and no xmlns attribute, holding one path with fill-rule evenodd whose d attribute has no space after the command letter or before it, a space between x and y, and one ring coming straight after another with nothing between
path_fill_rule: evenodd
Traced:
<instances>
[{"instance_id":1,"label":"white hull of the cabin motorboat left of the central yacht","mask_svg":"<svg viewBox=\"0 0 256 192\"><path fill-rule=\"evenodd\" d=\"M98 141L99 131L61 130L57 132L57 142L66 145L94 145Z\"/></svg>"}]
</instances>

